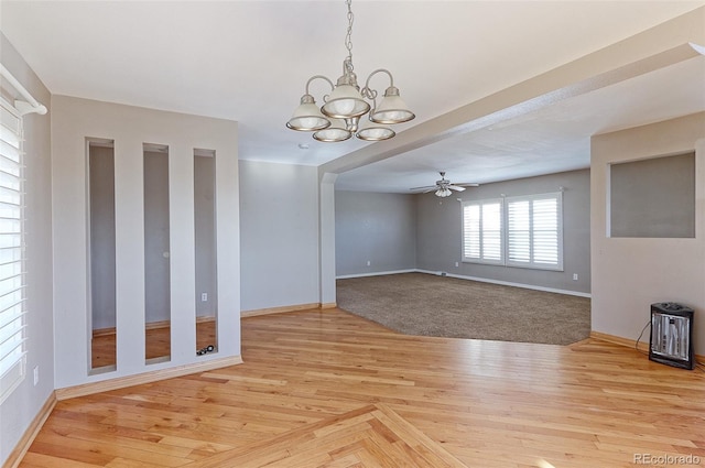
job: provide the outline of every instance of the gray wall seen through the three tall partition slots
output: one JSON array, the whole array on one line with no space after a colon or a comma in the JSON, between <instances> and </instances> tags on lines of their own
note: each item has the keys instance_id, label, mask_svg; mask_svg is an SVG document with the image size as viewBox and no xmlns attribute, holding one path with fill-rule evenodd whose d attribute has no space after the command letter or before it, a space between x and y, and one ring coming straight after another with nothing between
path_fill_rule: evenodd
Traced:
<instances>
[{"instance_id":1,"label":"gray wall seen through the three tall partition slots","mask_svg":"<svg viewBox=\"0 0 705 468\"><path fill-rule=\"evenodd\" d=\"M93 328L116 326L113 150L91 148L90 273ZM95 178L95 179L94 179ZM194 156L196 315L216 313L215 156ZM144 152L145 320L170 320L169 153ZM207 293L207 301L200 294Z\"/></svg>"}]
</instances>

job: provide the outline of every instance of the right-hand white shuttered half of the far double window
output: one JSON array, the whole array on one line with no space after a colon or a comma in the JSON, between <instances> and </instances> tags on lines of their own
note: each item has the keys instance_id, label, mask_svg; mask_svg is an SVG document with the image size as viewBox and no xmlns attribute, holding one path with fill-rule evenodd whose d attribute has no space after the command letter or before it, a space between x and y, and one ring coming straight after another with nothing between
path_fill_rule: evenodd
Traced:
<instances>
[{"instance_id":1,"label":"right-hand white shuttered half of the far double window","mask_svg":"<svg viewBox=\"0 0 705 468\"><path fill-rule=\"evenodd\" d=\"M507 264L563 270L560 192L507 198Z\"/></svg>"}]
</instances>

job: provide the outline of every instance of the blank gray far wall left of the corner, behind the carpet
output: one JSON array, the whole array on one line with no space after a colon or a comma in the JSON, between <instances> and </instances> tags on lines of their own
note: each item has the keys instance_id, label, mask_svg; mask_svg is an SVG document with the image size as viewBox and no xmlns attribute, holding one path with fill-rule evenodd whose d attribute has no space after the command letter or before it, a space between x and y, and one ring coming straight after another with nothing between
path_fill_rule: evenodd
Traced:
<instances>
[{"instance_id":1,"label":"blank gray far wall left of the corner, behind the carpet","mask_svg":"<svg viewBox=\"0 0 705 468\"><path fill-rule=\"evenodd\" d=\"M336 276L416 266L413 196L336 191L335 225Z\"/></svg>"}]
</instances>

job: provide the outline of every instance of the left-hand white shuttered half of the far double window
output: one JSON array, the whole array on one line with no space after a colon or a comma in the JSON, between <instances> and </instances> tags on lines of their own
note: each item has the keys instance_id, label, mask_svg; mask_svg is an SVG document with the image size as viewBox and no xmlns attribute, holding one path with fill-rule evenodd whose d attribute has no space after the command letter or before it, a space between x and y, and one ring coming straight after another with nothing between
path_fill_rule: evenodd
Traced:
<instances>
[{"instance_id":1,"label":"left-hand white shuttered half of the far double window","mask_svg":"<svg viewBox=\"0 0 705 468\"><path fill-rule=\"evenodd\" d=\"M463 261L502 264L502 200L463 203Z\"/></svg>"}]
</instances>

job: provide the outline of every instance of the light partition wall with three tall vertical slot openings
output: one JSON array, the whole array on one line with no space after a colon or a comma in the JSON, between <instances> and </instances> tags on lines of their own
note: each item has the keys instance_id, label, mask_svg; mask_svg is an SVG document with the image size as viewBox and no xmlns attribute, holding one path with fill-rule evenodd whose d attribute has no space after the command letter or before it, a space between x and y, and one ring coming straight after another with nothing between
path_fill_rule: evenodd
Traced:
<instances>
[{"instance_id":1,"label":"light partition wall with three tall vertical slot openings","mask_svg":"<svg viewBox=\"0 0 705 468\"><path fill-rule=\"evenodd\" d=\"M240 355L237 122L52 96L55 388ZM86 137L115 141L117 368L89 372ZM169 146L169 361L145 362L144 143ZM196 356L194 149L217 154L217 352ZM225 338L227 337L227 339Z\"/></svg>"}]
</instances>

